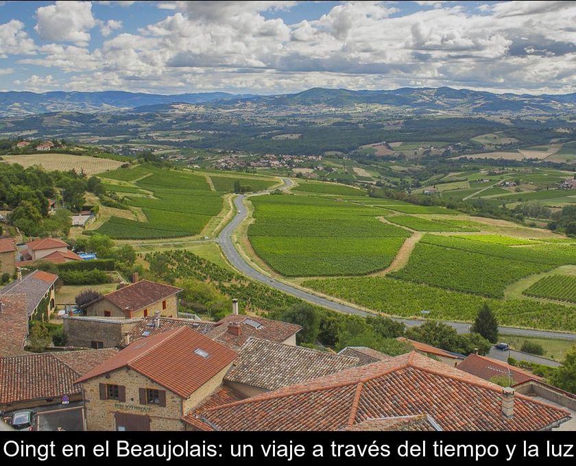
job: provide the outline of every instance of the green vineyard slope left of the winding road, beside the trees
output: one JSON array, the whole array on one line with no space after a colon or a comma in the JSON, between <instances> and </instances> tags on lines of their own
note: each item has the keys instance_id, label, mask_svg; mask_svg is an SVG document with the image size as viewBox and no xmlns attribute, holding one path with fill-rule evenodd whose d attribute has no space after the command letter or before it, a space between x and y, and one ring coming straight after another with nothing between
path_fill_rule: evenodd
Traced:
<instances>
[{"instance_id":1,"label":"green vineyard slope left of the winding road, beside the trees","mask_svg":"<svg viewBox=\"0 0 576 466\"><path fill-rule=\"evenodd\" d=\"M132 170L135 169L128 169ZM139 167L139 171L139 177L148 176L136 182L136 186L152 191L154 199L130 197L130 193L127 198L130 206L142 208L147 221L112 217L97 232L115 239L191 236L200 233L222 208L220 194L210 191L202 175L150 166Z\"/></svg>"}]
</instances>

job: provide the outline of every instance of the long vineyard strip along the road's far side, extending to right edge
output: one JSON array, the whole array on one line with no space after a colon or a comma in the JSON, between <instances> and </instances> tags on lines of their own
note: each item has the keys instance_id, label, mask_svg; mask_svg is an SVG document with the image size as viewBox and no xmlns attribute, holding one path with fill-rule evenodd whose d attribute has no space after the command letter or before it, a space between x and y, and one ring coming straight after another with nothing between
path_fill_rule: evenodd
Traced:
<instances>
[{"instance_id":1,"label":"long vineyard strip along the road's far side, extending to right edge","mask_svg":"<svg viewBox=\"0 0 576 466\"><path fill-rule=\"evenodd\" d=\"M561 304L527 299L490 299L385 277L307 280L302 285L400 317L422 317L420 311L429 310L430 319L471 322L486 303L496 312L503 326L576 331L576 312Z\"/></svg>"}]
</instances>

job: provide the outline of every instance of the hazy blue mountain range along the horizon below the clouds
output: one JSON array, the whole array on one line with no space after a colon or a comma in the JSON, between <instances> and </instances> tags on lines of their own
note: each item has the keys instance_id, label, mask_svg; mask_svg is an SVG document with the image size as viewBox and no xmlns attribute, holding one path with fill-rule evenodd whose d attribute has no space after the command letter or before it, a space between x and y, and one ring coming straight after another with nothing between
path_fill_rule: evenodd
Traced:
<instances>
[{"instance_id":1,"label":"hazy blue mountain range along the horizon below the clouds","mask_svg":"<svg viewBox=\"0 0 576 466\"><path fill-rule=\"evenodd\" d=\"M564 95L494 94L453 88L400 88L394 90L348 90L312 88L286 95L234 95L190 93L158 95L104 91L95 93L28 92L0 93L0 116L25 116L47 112L97 112L101 110L152 111L171 103L202 104L212 108L250 106L333 106L379 104L418 112L464 114L565 114L576 110L576 93Z\"/></svg>"}]
</instances>

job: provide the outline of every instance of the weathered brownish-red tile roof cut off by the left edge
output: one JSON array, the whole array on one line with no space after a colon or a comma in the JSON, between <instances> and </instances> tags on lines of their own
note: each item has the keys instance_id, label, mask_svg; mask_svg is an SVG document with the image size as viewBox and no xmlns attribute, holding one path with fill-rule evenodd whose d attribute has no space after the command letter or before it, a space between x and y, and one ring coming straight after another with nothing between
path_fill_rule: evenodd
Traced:
<instances>
[{"instance_id":1,"label":"weathered brownish-red tile roof cut off by the left edge","mask_svg":"<svg viewBox=\"0 0 576 466\"><path fill-rule=\"evenodd\" d=\"M24 354L28 334L26 295L1 295L0 356Z\"/></svg>"}]
</instances>

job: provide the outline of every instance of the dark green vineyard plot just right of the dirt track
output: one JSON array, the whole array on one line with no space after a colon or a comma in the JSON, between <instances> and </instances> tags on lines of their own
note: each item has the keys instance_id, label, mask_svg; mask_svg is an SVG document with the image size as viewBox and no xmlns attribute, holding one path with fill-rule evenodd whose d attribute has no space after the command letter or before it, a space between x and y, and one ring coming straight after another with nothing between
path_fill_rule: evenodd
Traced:
<instances>
[{"instance_id":1,"label":"dark green vineyard plot just right of the dirt track","mask_svg":"<svg viewBox=\"0 0 576 466\"><path fill-rule=\"evenodd\" d=\"M523 262L418 243L408 265L393 274L409 282L465 291L488 297L503 297L508 284L553 266Z\"/></svg>"}]
</instances>

